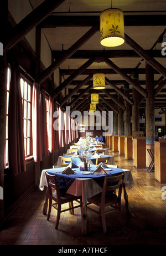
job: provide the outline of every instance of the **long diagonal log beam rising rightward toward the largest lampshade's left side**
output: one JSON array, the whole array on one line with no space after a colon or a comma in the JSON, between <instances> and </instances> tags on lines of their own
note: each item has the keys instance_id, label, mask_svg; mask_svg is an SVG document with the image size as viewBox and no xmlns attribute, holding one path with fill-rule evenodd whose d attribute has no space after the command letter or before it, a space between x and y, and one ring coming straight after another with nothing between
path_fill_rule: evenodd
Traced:
<instances>
[{"instance_id":1,"label":"long diagonal log beam rising rightward toward the largest lampshade's left side","mask_svg":"<svg viewBox=\"0 0 166 256\"><path fill-rule=\"evenodd\" d=\"M57 69L60 64L62 64L66 59L68 59L72 54L74 54L77 49L79 49L83 44L89 40L92 35L96 34L98 31L98 26L92 27L88 32L86 32L75 44L73 44L68 50L63 52L59 58L55 60L47 69L39 75L38 83L41 84L49 75L51 75L55 69Z\"/></svg>"}]
</instances>

